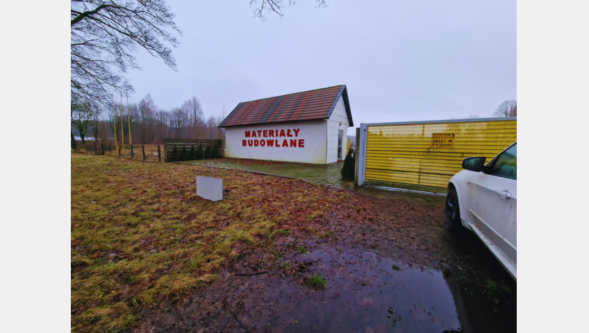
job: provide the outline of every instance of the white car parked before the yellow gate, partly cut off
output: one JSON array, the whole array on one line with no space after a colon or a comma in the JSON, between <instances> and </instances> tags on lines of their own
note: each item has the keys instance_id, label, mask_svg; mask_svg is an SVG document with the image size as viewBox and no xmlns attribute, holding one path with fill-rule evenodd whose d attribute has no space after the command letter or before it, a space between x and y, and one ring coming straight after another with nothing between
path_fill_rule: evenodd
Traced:
<instances>
[{"instance_id":1,"label":"white car parked before the yellow gate, partly cut off","mask_svg":"<svg viewBox=\"0 0 589 333\"><path fill-rule=\"evenodd\" d=\"M517 142L485 160L465 158L450 179L446 223L472 230L517 280Z\"/></svg>"}]
</instances>

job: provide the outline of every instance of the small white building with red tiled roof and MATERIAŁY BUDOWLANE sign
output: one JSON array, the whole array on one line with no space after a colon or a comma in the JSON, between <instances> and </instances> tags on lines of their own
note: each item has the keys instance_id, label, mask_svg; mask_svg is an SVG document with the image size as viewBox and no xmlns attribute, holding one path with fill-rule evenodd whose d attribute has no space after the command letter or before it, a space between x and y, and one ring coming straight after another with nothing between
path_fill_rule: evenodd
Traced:
<instances>
[{"instance_id":1,"label":"small white building with red tiled roof and MATERIA\u0141Y BUDOWLANE sign","mask_svg":"<svg viewBox=\"0 0 589 333\"><path fill-rule=\"evenodd\" d=\"M354 126L345 85L239 103L219 124L226 157L329 164Z\"/></svg>"}]
</instances>

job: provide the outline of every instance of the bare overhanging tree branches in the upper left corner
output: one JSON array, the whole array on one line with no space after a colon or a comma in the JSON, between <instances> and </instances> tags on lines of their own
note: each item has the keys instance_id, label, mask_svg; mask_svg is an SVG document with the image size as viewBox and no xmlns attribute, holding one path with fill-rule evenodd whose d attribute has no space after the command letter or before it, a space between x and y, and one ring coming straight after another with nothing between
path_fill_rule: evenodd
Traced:
<instances>
[{"instance_id":1,"label":"bare overhanging tree branches in the upper left corner","mask_svg":"<svg viewBox=\"0 0 589 333\"><path fill-rule=\"evenodd\" d=\"M113 91L131 91L117 73L140 69L138 48L176 70L167 45L182 32L164 0L72 0L70 19L72 93L108 105Z\"/></svg>"}]
</instances>

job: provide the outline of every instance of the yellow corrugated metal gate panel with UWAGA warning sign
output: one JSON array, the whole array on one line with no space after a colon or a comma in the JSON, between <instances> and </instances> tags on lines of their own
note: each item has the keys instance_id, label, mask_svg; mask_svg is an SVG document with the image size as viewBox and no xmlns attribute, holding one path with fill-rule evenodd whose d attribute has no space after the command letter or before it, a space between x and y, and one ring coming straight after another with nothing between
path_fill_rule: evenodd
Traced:
<instances>
[{"instance_id":1,"label":"yellow corrugated metal gate panel with UWAGA warning sign","mask_svg":"<svg viewBox=\"0 0 589 333\"><path fill-rule=\"evenodd\" d=\"M366 180L446 187L465 157L491 160L517 141L517 120L368 126Z\"/></svg>"}]
</instances>

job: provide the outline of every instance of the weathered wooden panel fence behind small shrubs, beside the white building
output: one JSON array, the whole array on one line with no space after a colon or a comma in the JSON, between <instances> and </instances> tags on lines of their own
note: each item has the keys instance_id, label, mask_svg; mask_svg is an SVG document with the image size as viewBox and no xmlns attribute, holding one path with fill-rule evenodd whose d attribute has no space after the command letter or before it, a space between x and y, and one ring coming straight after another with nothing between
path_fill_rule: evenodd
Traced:
<instances>
[{"instance_id":1,"label":"weathered wooden panel fence behind small shrubs, beside the white building","mask_svg":"<svg viewBox=\"0 0 589 333\"><path fill-rule=\"evenodd\" d=\"M185 160L196 160L198 157L192 156L198 152L199 146L202 151L217 151L217 156L210 157L224 157L225 156L225 141L216 139L164 139L164 156L165 162L172 162L182 160L181 155L185 155ZM216 148L216 149L215 149ZM176 156L174 156L176 155ZM191 157L187 157L190 155ZM210 158L208 157L208 158ZM204 158L201 156L200 158Z\"/></svg>"}]
</instances>

